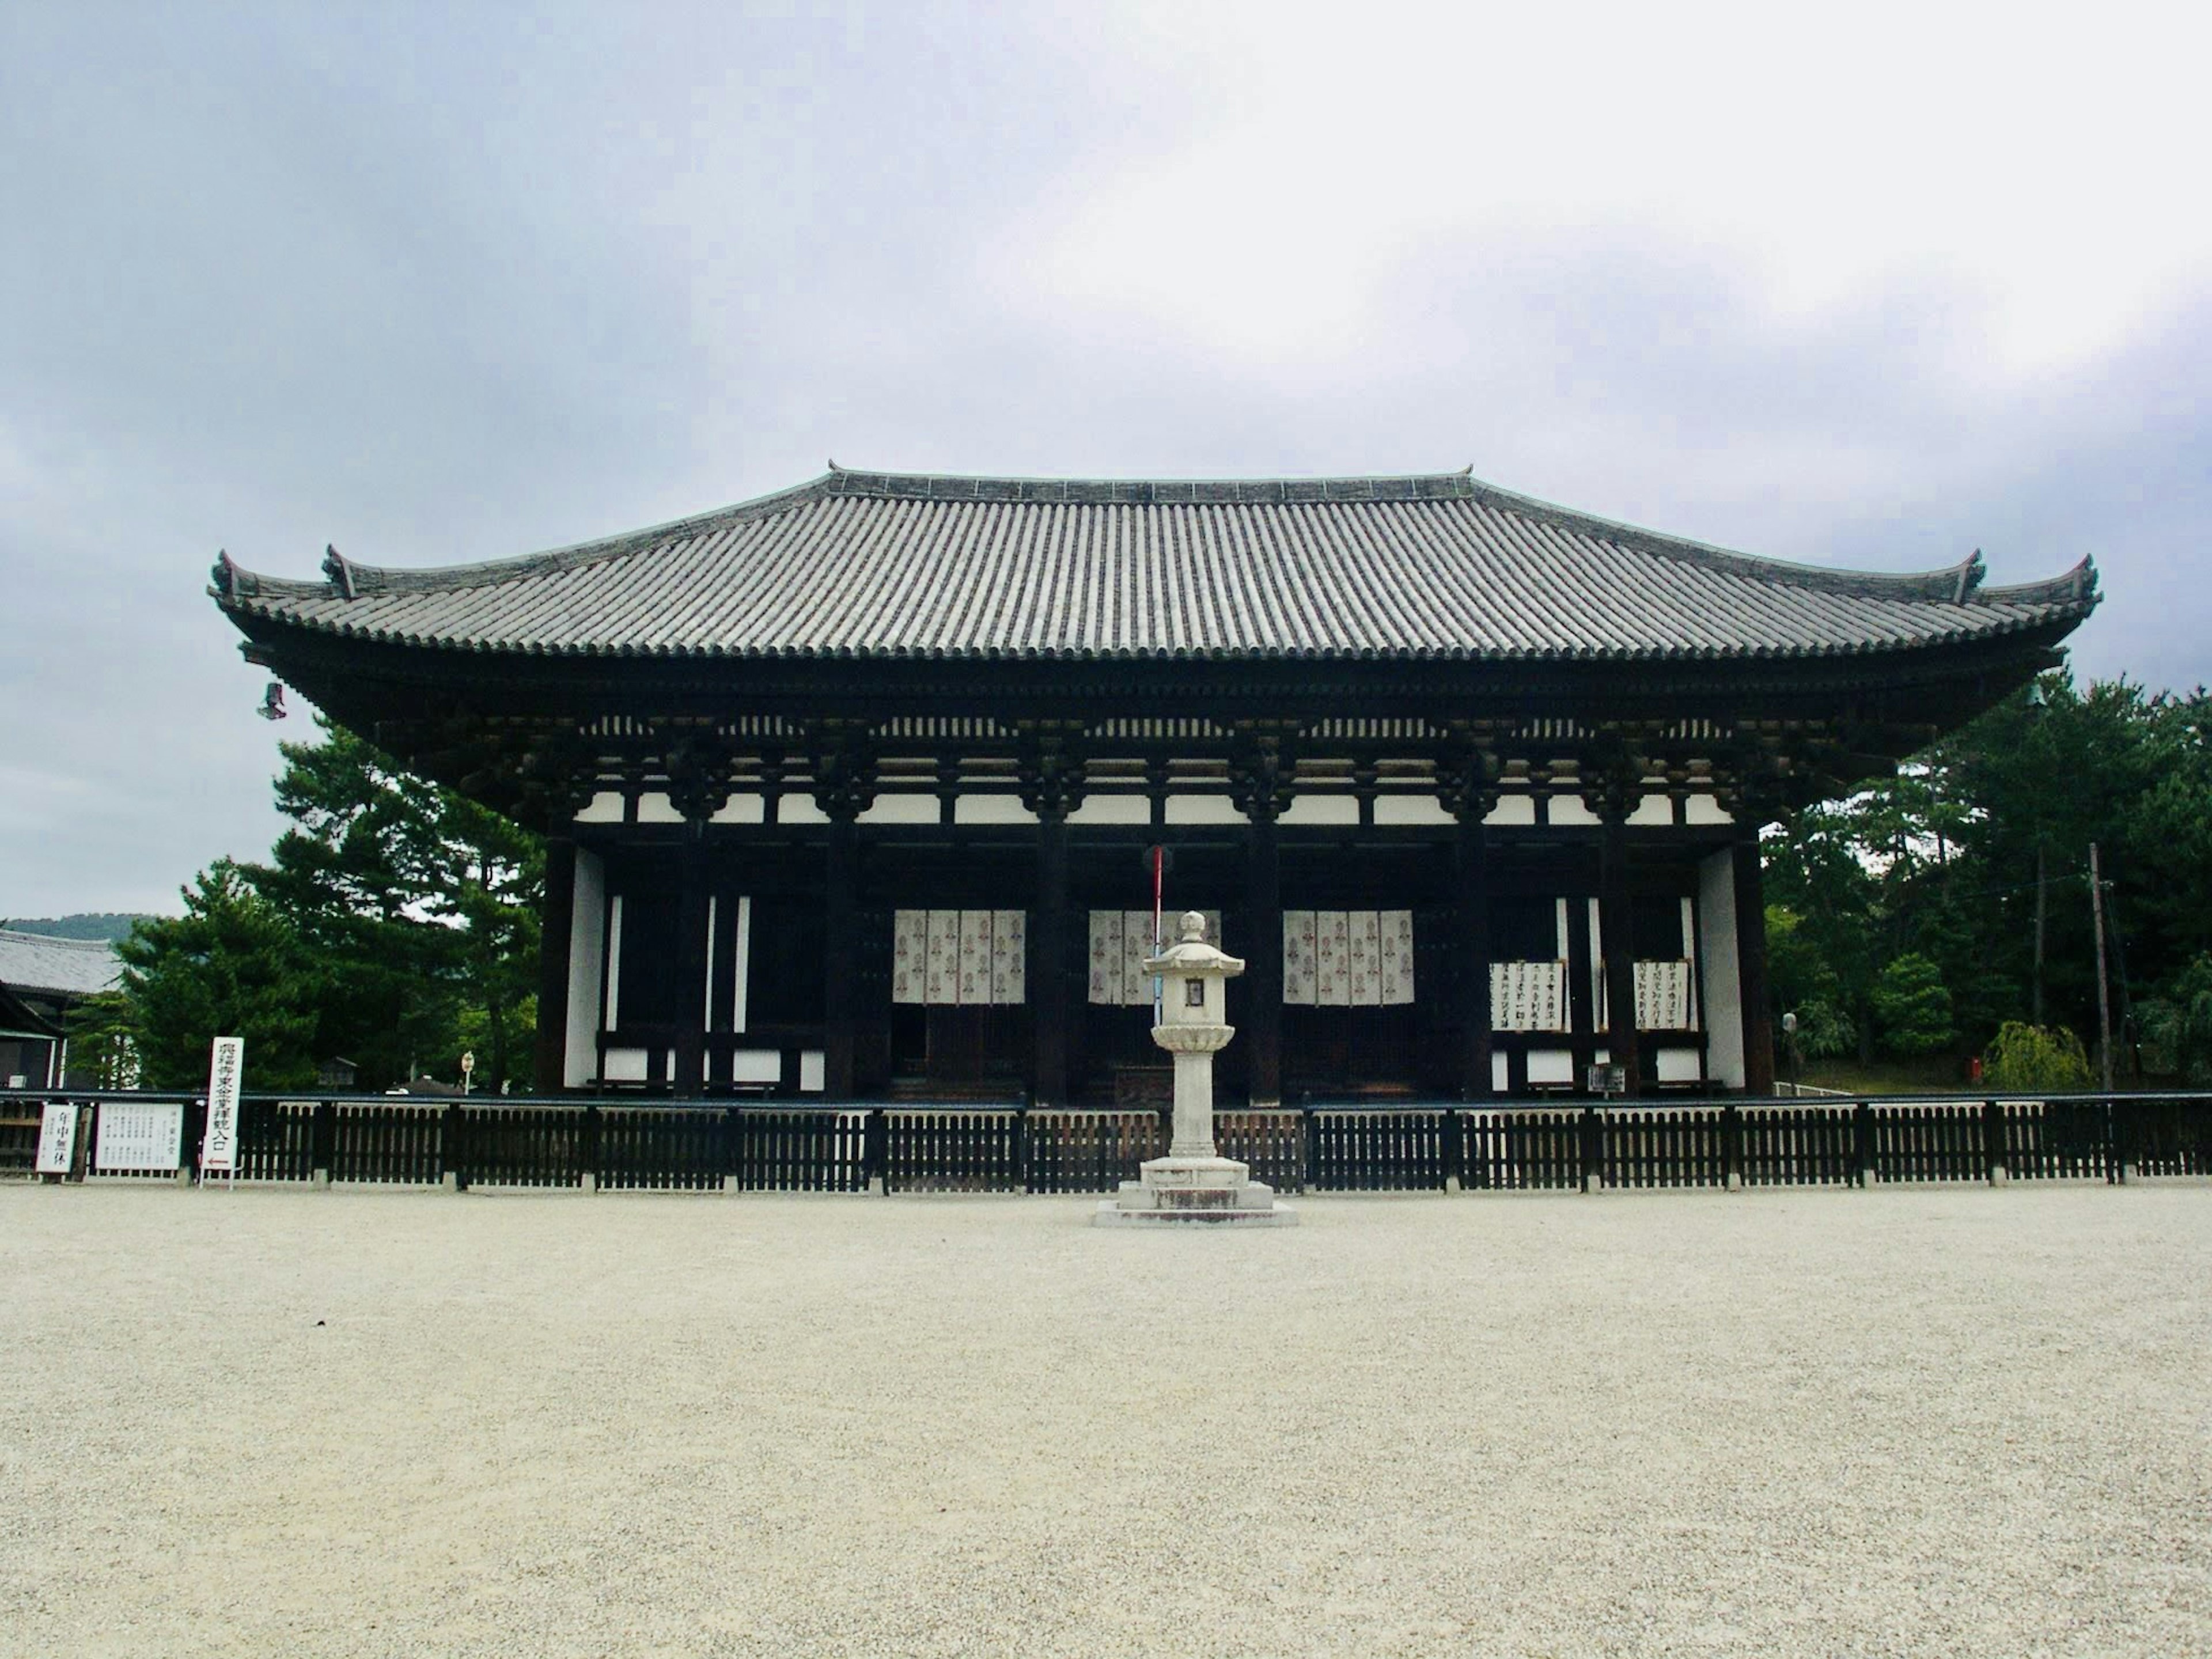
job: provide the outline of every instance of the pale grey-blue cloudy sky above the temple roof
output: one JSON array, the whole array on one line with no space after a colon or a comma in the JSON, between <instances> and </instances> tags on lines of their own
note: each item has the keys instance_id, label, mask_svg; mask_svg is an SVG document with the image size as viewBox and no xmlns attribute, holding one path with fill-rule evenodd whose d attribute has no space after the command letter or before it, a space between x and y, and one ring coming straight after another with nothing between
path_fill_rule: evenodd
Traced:
<instances>
[{"instance_id":1,"label":"pale grey-blue cloudy sky above the temple roof","mask_svg":"<svg viewBox=\"0 0 2212 1659\"><path fill-rule=\"evenodd\" d=\"M0 7L0 916L274 832L228 549L880 469L1442 471L2097 557L2212 679L2201 9Z\"/></svg>"}]
</instances>

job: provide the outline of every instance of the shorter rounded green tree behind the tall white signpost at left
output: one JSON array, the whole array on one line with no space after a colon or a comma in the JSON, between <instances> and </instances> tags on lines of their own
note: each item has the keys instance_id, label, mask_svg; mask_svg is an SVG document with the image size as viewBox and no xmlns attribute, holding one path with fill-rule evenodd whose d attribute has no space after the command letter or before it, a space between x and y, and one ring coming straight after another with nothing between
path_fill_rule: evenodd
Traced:
<instances>
[{"instance_id":1,"label":"shorter rounded green tree behind the tall white signpost at left","mask_svg":"<svg viewBox=\"0 0 2212 1659\"><path fill-rule=\"evenodd\" d=\"M142 920L115 947L142 1079L190 1088L208 1079L208 1042L246 1037L254 1088L314 1082L314 967L292 922L219 858L184 889L184 916Z\"/></svg>"}]
</instances>

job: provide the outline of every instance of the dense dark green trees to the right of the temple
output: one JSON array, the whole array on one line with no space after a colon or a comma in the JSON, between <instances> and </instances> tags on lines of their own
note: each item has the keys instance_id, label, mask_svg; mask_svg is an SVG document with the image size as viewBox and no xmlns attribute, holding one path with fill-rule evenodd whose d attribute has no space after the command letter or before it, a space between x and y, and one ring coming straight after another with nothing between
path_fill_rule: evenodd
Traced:
<instances>
[{"instance_id":1,"label":"dense dark green trees to the right of the temple","mask_svg":"<svg viewBox=\"0 0 2212 1659\"><path fill-rule=\"evenodd\" d=\"M2212 699L2077 688L2064 670L2037 690L1770 832L1767 900L1798 918L1770 967L1776 1018L1794 1006L1809 1022L1814 1002L1834 1002L1865 1064L1885 1031L1882 973L1918 956L1951 991L1964 1046L2006 1022L2093 1035L2097 843L2115 1020L2130 989L2163 987L2141 1009L2146 1060L2194 1042L2174 987L2212 953Z\"/></svg>"}]
</instances>

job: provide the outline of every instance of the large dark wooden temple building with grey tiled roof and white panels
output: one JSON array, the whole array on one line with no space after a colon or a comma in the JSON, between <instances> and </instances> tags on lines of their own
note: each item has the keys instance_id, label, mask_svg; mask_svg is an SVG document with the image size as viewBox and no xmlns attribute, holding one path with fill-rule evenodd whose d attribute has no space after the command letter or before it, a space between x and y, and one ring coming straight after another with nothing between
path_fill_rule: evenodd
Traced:
<instances>
[{"instance_id":1,"label":"large dark wooden temple building with grey tiled roof and white panels","mask_svg":"<svg viewBox=\"0 0 2212 1659\"><path fill-rule=\"evenodd\" d=\"M1250 960L1223 1099L1767 1093L1761 825L2097 604L2086 560L1829 571L1467 473L838 467L491 564L226 555L212 593L544 830L544 1088L1053 1106L1159 1097L1155 874Z\"/></svg>"}]
</instances>

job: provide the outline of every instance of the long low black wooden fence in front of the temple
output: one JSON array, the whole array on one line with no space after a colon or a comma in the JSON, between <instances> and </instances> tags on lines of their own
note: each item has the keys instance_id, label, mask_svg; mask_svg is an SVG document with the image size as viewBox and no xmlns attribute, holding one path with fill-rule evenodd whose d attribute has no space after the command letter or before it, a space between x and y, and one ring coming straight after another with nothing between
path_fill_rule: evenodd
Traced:
<instances>
[{"instance_id":1,"label":"long low black wooden fence in front of the temple","mask_svg":"<svg viewBox=\"0 0 2212 1659\"><path fill-rule=\"evenodd\" d=\"M46 1102L80 1106L80 1172L108 1170L100 1106L188 1095L0 1093L0 1175L29 1175ZM1657 1190L1885 1181L2212 1177L2212 1095L1495 1102L1230 1108L1223 1157L1279 1192ZM250 1095L239 1179L453 1188L1113 1192L1168 1150L1152 1108L635 1104Z\"/></svg>"}]
</instances>

